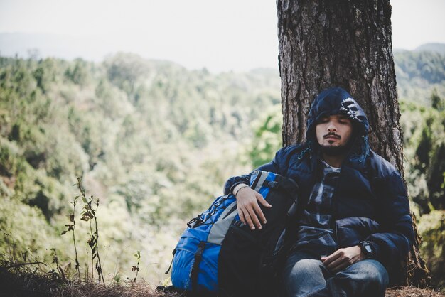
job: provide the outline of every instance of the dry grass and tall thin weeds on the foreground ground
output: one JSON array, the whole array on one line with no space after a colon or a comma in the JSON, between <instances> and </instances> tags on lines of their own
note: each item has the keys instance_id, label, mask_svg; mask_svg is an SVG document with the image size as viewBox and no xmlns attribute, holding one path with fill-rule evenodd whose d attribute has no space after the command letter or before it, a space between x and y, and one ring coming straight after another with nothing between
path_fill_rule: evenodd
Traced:
<instances>
[{"instance_id":1,"label":"dry grass and tall thin weeds on the foreground ground","mask_svg":"<svg viewBox=\"0 0 445 297\"><path fill-rule=\"evenodd\" d=\"M73 212L68 215L69 222L61 235L71 232L75 251L75 266L71 263L60 265L56 249L51 249L52 263L46 264L38 259L33 259L27 252L21 254L21 258L11 256L11 259L0 259L0 296L148 296L148 297L179 297L177 293L156 291L154 286L142 281L136 281L141 263L141 253L134 254L136 264L131 267L134 279L116 281L119 272L111 283L106 284L102 271L99 253L99 225L97 222L97 208L99 200L90 196L87 198L85 189L82 188L82 179L78 178L77 188L80 195L75 196L71 204ZM77 215L76 206L83 202L82 210ZM85 263L85 271L80 270L80 261L77 254L76 224L80 221L88 222L89 237L87 242L90 247L90 263ZM9 237L6 237L9 238ZM8 242L9 244L9 242ZM12 253L11 253L12 254ZM55 267L54 267L55 266ZM90 266L90 268L88 268ZM54 268L52 268L54 267ZM130 269L130 268L129 268ZM97 276L95 276L95 271ZM436 297L445 296L442 293L400 286L387 290L386 297ZM271 296L273 297L273 296Z\"/></svg>"}]
</instances>

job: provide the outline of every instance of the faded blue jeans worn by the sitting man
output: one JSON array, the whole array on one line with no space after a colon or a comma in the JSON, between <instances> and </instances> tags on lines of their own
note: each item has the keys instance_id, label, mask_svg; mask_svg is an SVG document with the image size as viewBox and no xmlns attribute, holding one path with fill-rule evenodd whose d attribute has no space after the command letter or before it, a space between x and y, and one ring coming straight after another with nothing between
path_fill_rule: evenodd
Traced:
<instances>
[{"instance_id":1,"label":"faded blue jeans worn by the sitting man","mask_svg":"<svg viewBox=\"0 0 445 297\"><path fill-rule=\"evenodd\" d=\"M331 273L320 259L295 251L286 261L282 293L286 297L383 297L387 284L387 271L376 260L358 261Z\"/></svg>"}]
</instances>

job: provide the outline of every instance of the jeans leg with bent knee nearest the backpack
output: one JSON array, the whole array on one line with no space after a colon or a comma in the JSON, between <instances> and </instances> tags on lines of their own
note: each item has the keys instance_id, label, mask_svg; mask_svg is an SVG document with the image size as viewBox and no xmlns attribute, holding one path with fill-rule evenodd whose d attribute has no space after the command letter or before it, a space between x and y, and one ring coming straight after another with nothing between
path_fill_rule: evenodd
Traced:
<instances>
[{"instance_id":1,"label":"jeans leg with bent knee nearest the backpack","mask_svg":"<svg viewBox=\"0 0 445 297\"><path fill-rule=\"evenodd\" d=\"M323 263L304 252L293 252L286 260L284 267L284 292L286 297L306 296L314 289L326 286L325 274L328 274Z\"/></svg>"}]
</instances>

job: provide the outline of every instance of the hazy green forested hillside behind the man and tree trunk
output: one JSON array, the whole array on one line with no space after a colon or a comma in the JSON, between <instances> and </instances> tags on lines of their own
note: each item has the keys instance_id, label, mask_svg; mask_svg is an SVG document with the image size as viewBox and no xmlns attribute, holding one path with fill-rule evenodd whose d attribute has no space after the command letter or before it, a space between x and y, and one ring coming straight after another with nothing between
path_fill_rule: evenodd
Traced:
<instances>
[{"instance_id":1,"label":"hazy green forested hillside behind the man and tree trunk","mask_svg":"<svg viewBox=\"0 0 445 297\"><path fill-rule=\"evenodd\" d=\"M445 54L394 58L410 205L440 287ZM132 53L102 63L0 57L0 261L97 278L100 254L107 282L137 271L166 284L186 222L222 195L227 178L282 146L280 94L274 69L213 73ZM85 219L88 202L100 237Z\"/></svg>"}]
</instances>

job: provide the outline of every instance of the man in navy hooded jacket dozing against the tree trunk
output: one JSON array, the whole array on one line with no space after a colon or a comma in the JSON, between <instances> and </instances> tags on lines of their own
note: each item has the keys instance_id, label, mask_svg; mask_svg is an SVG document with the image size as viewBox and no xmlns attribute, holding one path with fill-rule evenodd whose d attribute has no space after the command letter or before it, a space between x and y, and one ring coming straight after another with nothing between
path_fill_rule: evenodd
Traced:
<instances>
[{"instance_id":1,"label":"man in navy hooded jacket dozing against the tree trunk","mask_svg":"<svg viewBox=\"0 0 445 297\"><path fill-rule=\"evenodd\" d=\"M295 222L284 267L284 296L384 296L414 233L400 173L368 146L368 119L341 87L321 92L311 106L306 143L277 151L258 169L293 178L307 201ZM266 224L248 187L250 175L227 180L242 222ZM289 228L289 230L292 229Z\"/></svg>"}]
</instances>

